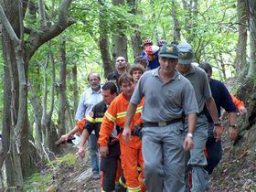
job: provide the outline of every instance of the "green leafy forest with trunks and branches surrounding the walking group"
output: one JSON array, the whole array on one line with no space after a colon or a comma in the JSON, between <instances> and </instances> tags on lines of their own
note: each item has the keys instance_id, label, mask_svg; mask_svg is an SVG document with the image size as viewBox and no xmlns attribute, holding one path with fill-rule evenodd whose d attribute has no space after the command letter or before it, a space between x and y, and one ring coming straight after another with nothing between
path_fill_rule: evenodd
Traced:
<instances>
[{"instance_id":1,"label":"green leafy forest with trunks and branches surrounding the walking group","mask_svg":"<svg viewBox=\"0 0 256 192\"><path fill-rule=\"evenodd\" d=\"M61 153L54 143L74 126L88 73L97 71L104 79L118 56L133 64L145 38L187 41L197 63L214 66L215 78L235 78L230 91L249 108L240 120L240 141L251 133L255 0L1 0L0 5L3 188L22 191L24 180L47 162L46 148Z\"/></svg>"}]
</instances>

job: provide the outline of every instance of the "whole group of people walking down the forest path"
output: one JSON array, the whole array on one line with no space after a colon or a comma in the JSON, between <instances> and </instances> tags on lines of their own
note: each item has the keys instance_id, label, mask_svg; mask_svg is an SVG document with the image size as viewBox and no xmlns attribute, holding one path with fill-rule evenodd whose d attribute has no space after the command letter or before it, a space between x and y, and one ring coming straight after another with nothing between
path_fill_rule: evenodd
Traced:
<instances>
[{"instance_id":1,"label":"whole group of people walking down the forest path","mask_svg":"<svg viewBox=\"0 0 256 192\"><path fill-rule=\"evenodd\" d=\"M89 74L91 88L82 94L76 115L83 121L62 137L82 131L79 155L88 141L102 191L206 191L222 155L220 107L229 112L231 140L238 136L237 112L246 108L211 78L208 63L192 63L189 44L163 43L156 68L147 54L152 41L145 44L145 54L130 69L118 57L103 86L99 74Z\"/></svg>"}]
</instances>

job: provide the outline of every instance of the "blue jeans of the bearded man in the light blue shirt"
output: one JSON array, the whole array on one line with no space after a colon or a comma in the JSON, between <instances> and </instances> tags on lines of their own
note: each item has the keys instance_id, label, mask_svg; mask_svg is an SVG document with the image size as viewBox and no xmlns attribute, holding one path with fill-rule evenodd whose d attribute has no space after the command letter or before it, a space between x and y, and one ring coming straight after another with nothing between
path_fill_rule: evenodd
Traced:
<instances>
[{"instance_id":1,"label":"blue jeans of the bearded man in the light blue shirt","mask_svg":"<svg viewBox=\"0 0 256 192\"><path fill-rule=\"evenodd\" d=\"M95 134L91 134L88 139L88 146L90 152L91 159L91 167L93 174L100 174L100 161L99 161L99 152L98 152L98 144L97 138Z\"/></svg>"}]
</instances>

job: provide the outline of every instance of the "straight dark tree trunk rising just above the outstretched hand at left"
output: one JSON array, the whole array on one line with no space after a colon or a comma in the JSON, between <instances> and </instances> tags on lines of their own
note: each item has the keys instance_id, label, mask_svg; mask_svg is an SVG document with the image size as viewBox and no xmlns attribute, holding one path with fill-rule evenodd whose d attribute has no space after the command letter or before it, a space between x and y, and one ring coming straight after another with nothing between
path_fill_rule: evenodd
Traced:
<instances>
[{"instance_id":1,"label":"straight dark tree trunk rising just above the outstretched hand at left","mask_svg":"<svg viewBox=\"0 0 256 192\"><path fill-rule=\"evenodd\" d=\"M66 75L67 75L67 62L66 62L66 42L61 40L59 45L59 135L66 133Z\"/></svg>"}]
</instances>

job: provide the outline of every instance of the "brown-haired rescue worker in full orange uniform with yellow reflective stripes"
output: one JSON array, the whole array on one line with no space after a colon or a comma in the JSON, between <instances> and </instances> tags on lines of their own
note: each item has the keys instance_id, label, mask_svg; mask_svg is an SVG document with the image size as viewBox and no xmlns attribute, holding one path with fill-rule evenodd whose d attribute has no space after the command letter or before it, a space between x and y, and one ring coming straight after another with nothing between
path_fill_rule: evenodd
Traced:
<instances>
[{"instance_id":1,"label":"brown-haired rescue worker in full orange uniform with yellow reflective stripes","mask_svg":"<svg viewBox=\"0 0 256 192\"><path fill-rule=\"evenodd\" d=\"M102 156L106 156L109 153L108 138L112 133L115 124L123 131L126 111L134 91L133 77L128 73L124 73L119 79L119 85L123 92L117 96L114 101L112 101L101 123L100 138L98 143L100 145L100 153ZM130 137L130 141L128 143L123 141L122 132L118 135L121 148L123 175L126 179L128 192L144 191L142 175L144 170L142 142L136 132L142 123L140 116L143 105L144 100L138 105L137 111L133 118L133 123L131 123L132 135ZM140 175L137 170L137 165L140 165L142 169Z\"/></svg>"}]
</instances>

